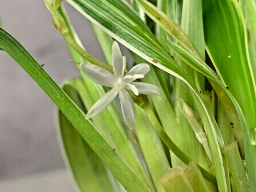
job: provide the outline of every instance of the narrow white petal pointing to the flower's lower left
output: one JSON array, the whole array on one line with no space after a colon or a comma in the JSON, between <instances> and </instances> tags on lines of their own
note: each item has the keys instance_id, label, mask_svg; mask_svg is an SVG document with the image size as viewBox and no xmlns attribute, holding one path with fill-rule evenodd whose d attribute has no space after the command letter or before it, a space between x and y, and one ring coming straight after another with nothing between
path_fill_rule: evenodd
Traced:
<instances>
[{"instance_id":1,"label":"narrow white petal pointing to the flower's lower left","mask_svg":"<svg viewBox=\"0 0 256 192\"><path fill-rule=\"evenodd\" d=\"M86 119L90 119L94 115L97 115L101 111L103 111L117 96L118 91L113 88L110 91L106 92L86 114Z\"/></svg>"}]
</instances>

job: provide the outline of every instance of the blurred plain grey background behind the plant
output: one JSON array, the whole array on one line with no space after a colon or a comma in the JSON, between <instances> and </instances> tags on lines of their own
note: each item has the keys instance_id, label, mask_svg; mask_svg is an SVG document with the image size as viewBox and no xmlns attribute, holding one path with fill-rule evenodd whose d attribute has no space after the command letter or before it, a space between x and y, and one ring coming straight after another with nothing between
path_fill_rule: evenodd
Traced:
<instances>
[{"instance_id":1,"label":"blurred plain grey background behind the plant","mask_svg":"<svg viewBox=\"0 0 256 192\"><path fill-rule=\"evenodd\" d=\"M64 5L87 51L105 61L89 22ZM71 55L43 0L0 0L0 17L5 30L44 63L58 84L79 76L76 66L68 62ZM73 190L56 139L56 111L32 78L0 51L0 191L15 191L24 183L38 185L32 191ZM58 179L43 180L45 175L48 180Z\"/></svg>"}]
</instances>

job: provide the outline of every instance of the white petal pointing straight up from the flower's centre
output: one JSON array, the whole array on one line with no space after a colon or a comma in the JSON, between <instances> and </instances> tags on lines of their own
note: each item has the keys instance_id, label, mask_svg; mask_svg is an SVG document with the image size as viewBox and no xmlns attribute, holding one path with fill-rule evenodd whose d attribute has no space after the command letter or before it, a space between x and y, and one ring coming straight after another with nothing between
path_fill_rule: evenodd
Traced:
<instances>
[{"instance_id":1,"label":"white petal pointing straight up from the flower's centre","mask_svg":"<svg viewBox=\"0 0 256 192\"><path fill-rule=\"evenodd\" d=\"M123 66L125 65L124 68L126 67L126 60L123 62L123 55L116 41L112 45L112 65L115 77L122 77Z\"/></svg>"}]
</instances>

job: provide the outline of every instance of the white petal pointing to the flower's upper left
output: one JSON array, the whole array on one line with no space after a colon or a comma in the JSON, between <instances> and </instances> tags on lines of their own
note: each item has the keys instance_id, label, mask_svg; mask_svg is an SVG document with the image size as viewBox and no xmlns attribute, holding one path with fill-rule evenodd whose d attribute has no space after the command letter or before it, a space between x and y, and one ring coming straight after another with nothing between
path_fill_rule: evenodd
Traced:
<instances>
[{"instance_id":1,"label":"white petal pointing to the flower's upper left","mask_svg":"<svg viewBox=\"0 0 256 192\"><path fill-rule=\"evenodd\" d=\"M97 65L85 62L81 63L80 67L84 74L95 83L101 84L106 87L114 87L114 84L116 83L116 78L111 72Z\"/></svg>"}]
</instances>

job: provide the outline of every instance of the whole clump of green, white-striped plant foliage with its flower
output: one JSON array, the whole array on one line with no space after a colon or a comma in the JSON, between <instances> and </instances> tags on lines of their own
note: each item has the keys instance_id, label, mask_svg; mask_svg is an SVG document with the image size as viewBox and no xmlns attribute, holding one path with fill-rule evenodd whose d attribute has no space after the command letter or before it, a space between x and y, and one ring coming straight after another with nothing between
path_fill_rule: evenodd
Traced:
<instances>
[{"instance_id":1,"label":"whole clump of green, white-striped plant foliage with its flower","mask_svg":"<svg viewBox=\"0 0 256 192\"><path fill-rule=\"evenodd\" d=\"M66 1L91 21L108 64L85 51L61 1L44 0L80 79L61 89L2 28L0 48L58 106L66 162L78 188L255 191L255 1ZM122 68L126 60L114 40L131 50L137 73ZM119 59L112 52L120 52ZM106 93L112 99L100 99ZM111 102L117 94L121 113ZM98 114L86 119L95 103Z\"/></svg>"}]
</instances>

